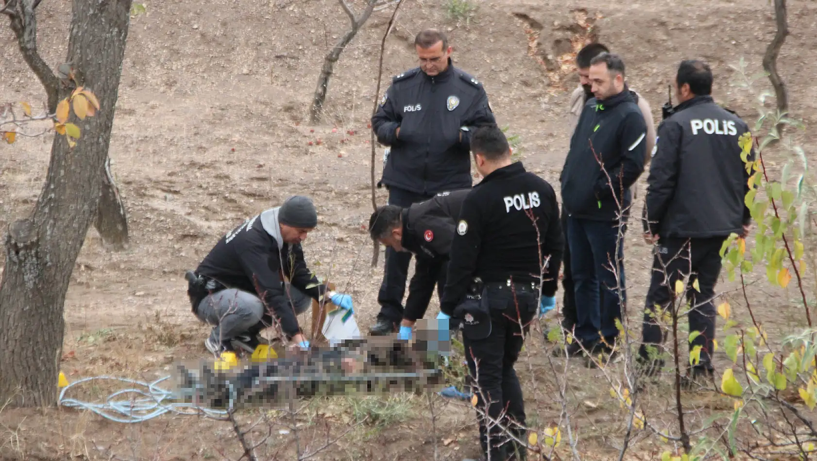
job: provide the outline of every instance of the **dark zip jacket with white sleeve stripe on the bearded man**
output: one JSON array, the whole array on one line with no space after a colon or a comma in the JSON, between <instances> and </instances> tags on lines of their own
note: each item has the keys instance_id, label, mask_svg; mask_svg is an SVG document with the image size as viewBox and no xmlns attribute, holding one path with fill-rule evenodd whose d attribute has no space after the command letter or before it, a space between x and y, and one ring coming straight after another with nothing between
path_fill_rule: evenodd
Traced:
<instances>
[{"instance_id":1,"label":"dark zip jacket with white sleeve stripe on the bearded man","mask_svg":"<svg viewBox=\"0 0 817 461\"><path fill-rule=\"evenodd\" d=\"M598 221L627 215L630 187L644 172L646 135L644 115L627 86L607 100L587 100L559 179L565 212Z\"/></svg>"}]
</instances>

